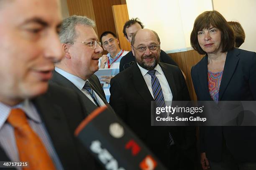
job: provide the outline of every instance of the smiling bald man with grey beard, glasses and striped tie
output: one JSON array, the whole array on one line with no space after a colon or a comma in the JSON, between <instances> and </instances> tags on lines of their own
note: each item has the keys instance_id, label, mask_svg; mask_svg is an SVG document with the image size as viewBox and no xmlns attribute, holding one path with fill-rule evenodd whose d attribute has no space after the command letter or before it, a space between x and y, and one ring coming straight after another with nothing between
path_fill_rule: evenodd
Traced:
<instances>
[{"instance_id":1,"label":"smiling bald man with grey beard, glasses and striped tie","mask_svg":"<svg viewBox=\"0 0 256 170\"><path fill-rule=\"evenodd\" d=\"M190 100L181 70L159 62L160 39L152 30L134 33L131 48L136 63L111 79L110 105L166 167L192 170L195 128L151 126L151 101Z\"/></svg>"}]
</instances>

